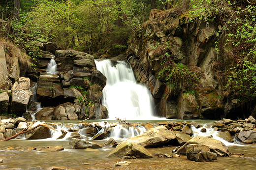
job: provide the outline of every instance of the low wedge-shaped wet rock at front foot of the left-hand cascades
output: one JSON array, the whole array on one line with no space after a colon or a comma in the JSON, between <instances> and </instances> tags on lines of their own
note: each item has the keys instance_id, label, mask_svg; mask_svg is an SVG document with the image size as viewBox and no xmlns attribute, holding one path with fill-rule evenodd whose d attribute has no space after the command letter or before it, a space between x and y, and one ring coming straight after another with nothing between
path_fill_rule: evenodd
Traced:
<instances>
[{"instance_id":1,"label":"low wedge-shaped wet rock at front foot of the left-hand cascades","mask_svg":"<svg viewBox=\"0 0 256 170\"><path fill-rule=\"evenodd\" d=\"M86 149L86 148L97 149L97 148L102 148L103 147L103 145L100 145L100 144L97 144L97 143L94 143L94 142L88 142L88 141L85 141L85 140L70 138L70 140L71 139L72 139L71 144L72 144L73 149Z\"/></svg>"}]
</instances>

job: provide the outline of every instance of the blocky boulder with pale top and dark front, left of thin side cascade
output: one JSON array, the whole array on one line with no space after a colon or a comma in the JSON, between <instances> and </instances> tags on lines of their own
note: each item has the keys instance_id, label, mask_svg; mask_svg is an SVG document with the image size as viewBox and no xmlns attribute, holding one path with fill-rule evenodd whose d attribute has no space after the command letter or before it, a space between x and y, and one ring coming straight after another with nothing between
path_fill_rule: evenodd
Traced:
<instances>
[{"instance_id":1,"label":"blocky boulder with pale top and dark front, left of thin side cascade","mask_svg":"<svg viewBox=\"0 0 256 170\"><path fill-rule=\"evenodd\" d=\"M26 113L31 98L32 92L30 90L18 89L12 91L10 113L17 113L18 115Z\"/></svg>"}]
</instances>

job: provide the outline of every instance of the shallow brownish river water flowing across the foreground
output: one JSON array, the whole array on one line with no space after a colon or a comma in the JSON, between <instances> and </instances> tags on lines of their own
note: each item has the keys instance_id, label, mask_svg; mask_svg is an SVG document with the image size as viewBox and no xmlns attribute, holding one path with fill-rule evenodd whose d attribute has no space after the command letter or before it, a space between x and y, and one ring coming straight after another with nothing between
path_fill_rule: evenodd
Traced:
<instances>
[{"instance_id":1,"label":"shallow brownish river water flowing across the foreground","mask_svg":"<svg viewBox=\"0 0 256 170\"><path fill-rule=\"evenodd\" d=\"M94 141L103 144L105 140ZM62 145L63 151L40 152L27 150L32 146ZM15 147L17 150L11 150ZM169 154L176 146L149 148L151 154ZM256 145L243 144L229 146L232 153L244 154L243 157L218 157L218 162L198 163L186 156L177 158L159 158L126 160L126 167L115 167L118 158L107 158L112 148L71 149L66 140L10 140L0 142L1 170L48 170L53 166L69 170L254 170L256 168ZM10 150L6 150L6 148ZM20 150L20 151L18 151ZM237 156L237 155L234 155ZM239 156L239 155L238 155ZM128 170L127 169L127 170Z\"/></svg>"}]
</instances>

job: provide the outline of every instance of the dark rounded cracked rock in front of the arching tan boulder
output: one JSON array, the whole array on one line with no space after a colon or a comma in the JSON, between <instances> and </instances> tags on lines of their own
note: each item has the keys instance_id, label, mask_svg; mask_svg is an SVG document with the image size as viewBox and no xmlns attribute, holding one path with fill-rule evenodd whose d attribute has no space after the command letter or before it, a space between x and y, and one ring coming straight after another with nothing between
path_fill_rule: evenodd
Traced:
<instances>
[{"instance_id":1,"label":"dark rounded cracked rock in front of the arching tan boulder","mask_svg":"<svg viewBox=\"0 0 256 170\"><path fill-rule=\"evenodd\" d=\"M189 160L195 162L217 161L217 154L210 148L201 144L189 144L186 146L186 155Z\"/></svg>"}]
</instances>

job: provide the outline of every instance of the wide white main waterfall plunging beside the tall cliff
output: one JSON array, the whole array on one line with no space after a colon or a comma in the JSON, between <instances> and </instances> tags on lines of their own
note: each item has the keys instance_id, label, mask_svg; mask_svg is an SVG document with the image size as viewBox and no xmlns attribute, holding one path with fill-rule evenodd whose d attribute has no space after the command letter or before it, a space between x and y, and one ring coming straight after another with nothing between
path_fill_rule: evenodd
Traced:
<instances>
[{"instance_id":1,"label":"wide white main waterfall plunging beside the tall cliff","mask_svg":"<svg viewBox=\"0 0 256 170\"><path fill-rule=\"evenodd\" d=\"M139 85L126 61L109 59L95 60L96 69L107 78L102 90L102 105L108 109L109 118L115 119L155 119L150 91Z\"/></svg>"}]
</instances>

